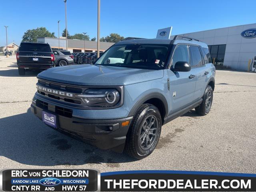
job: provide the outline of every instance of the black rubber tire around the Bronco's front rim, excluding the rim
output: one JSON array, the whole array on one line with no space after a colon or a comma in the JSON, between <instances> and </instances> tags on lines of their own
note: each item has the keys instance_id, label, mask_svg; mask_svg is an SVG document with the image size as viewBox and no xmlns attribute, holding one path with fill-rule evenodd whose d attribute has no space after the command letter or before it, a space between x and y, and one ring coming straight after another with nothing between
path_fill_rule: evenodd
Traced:
<instances>
[{"instance_id":1,"label":"black rubber tire around the Bronco's front rim, excluding the rim","mask_svg":"<svg viewBox=\"0 0 256 192\"><path fill-rule=\"evenodd\" d=\"M152 146L150 146L150 148L148 148L147 150L144 150L141 148L140 143L139 143L139 138L140 138L140 128L142 126L142 124L144 123L144 121L146 120L146 118L148 118L148 116L150 115L154 115L158 121L158 131L156 134L156 138L154 140L154 143L152 144ZM136 149L136 152L138 154L138 156L140 157L146 157L148 155L150 155L154 149L156 148L156 145L158 143L158 140L160 138L160 134L161 134L161 127L162 127L162 119L161 119L161 115L160 112L158 110L158 108L156 108L153 105L150 105L148 107L146 107L140 114L139 114L139 118L135 123L136 126L136 132L134 135L134 147Z\"/></svg>"}]
</instances>

